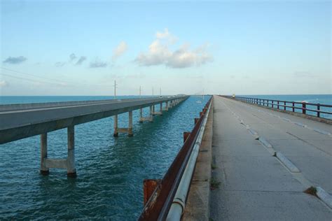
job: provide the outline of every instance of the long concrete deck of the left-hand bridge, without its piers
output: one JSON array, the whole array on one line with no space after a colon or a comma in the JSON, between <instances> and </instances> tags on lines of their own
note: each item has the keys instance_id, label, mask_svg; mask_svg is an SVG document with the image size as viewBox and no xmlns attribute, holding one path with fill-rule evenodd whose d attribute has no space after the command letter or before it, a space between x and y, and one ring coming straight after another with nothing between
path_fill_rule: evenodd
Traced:
<instances>
[{"instance_id":1,"label":"long concrete deck of the left-hand bridge, without its piers","mask_svg":"<svg viewBox=\"0 0 332 221\"><path fill-rule=\"evenodd\" d=\"M99 120L184 96L0 106L0 144Z\"/></svg>"}]
</instances>

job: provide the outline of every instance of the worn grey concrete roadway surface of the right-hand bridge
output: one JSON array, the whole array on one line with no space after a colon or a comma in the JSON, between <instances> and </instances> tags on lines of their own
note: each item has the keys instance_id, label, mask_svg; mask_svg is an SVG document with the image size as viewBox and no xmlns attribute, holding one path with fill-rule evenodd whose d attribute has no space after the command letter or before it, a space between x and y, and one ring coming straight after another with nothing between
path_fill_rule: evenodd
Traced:
<instances>
[{"instance_id":1,"label":"worn grey concrete roadway surface of the right-hand bridge","mask_svg":"<svg viewBox=\"0 0 332 221\"><path fill-rule=\"evenodd\" d=\"M214 96L212 177L221 184L211 218L332 220L331 134L329 124ZM303 192L310 186L318 197Z\"/></svg>"}]
</instances>

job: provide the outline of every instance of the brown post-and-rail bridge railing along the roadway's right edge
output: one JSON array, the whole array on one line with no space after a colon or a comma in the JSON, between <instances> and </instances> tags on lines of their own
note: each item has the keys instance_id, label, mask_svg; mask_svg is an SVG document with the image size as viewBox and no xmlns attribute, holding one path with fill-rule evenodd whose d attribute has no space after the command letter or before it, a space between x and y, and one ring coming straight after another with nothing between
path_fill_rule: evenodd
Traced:
<instances>
[{"instance_id":1,"label":"brown post-and-rail bridge railing along the roadway's right edge","mask_svg":"<svg viewBox=\"0 0 332 221\"><path fill-rule=\"evenodd\" d=\"M230 96L226 96L232 98ZM332 105L328 104L314 104L307 102L296 101L281 101L272 99L260 99L253 97L235 97L235 99L247 102L249 104L256 104L260 106L267 106L277 110L288 110L296 113L303 113L305 115L313 115L321 118L332 118Z\"/></svg>"}]
</instances>

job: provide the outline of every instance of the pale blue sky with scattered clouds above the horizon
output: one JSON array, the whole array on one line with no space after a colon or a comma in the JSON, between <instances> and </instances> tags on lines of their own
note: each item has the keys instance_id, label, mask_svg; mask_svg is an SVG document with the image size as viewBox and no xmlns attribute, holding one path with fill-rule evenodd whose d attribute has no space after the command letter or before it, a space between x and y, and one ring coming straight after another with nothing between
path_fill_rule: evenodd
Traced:
<instances>
[{"instance_id":1,"label":"pale blue sky with scattered clouds above the horizon","mask_svg":"<svg viewBox=\"0 0 332 221\"><path fill-rule=\"evenodd\" d=\"M331 1L0 2L1 96L332 94Z\"/></svg>"}]
</instances>

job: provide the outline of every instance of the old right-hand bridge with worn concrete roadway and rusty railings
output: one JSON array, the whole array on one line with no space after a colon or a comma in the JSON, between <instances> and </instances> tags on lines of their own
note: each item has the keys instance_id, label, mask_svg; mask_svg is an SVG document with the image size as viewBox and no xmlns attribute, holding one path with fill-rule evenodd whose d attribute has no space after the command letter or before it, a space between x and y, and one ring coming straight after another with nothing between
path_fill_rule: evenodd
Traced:
<instances>
[{"instance_id":1,"label":"old right-hand bridge with worn concrete roadway and rusty railings","mask_svg":"<svg viewBox=\"0 0 332 221\"><path fill-rule=\"evenodd\" d=\"M296 103L214 96L139 220L331 220L331 106Z\"/></svg>"}]
</instances>

